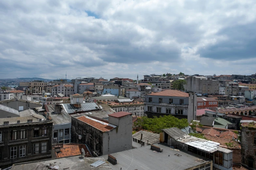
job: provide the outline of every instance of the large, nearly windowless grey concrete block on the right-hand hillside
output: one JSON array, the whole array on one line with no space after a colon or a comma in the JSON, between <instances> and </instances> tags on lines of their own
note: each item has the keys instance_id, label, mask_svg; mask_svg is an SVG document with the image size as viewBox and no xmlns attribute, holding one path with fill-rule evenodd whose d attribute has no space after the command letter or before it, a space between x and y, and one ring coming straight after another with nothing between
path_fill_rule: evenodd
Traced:
<instances>
[{"instance_id":1,"label":"large, nearly windowless grey concrete block on the right-hand hillside","mask_svg":"<svg viewBox=\"0 0 256 170\"><path fill-rule=\"evenodd\" d=\"M186 91L199 94L219 94L219 81L205 77L190 76L185 78L187 84L184 85Z\"/></svg>"}]
</instances>

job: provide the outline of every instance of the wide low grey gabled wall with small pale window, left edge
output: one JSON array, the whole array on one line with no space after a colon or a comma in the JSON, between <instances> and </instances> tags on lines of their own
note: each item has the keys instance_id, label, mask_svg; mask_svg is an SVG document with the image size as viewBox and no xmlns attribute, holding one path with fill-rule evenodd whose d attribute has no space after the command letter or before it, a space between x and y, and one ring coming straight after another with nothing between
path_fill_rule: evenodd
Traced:
<instances>
[{"instance_id":1,"label":"wide low grey gabled wall with small pale window, left edge","mask_svg":"<svg viewBox=\"0 0 256 170\"><path fill-rule=\"evenodd\" d=\"M36 103L30 103L30 102L23 102L23 101L11 101L8 103L0 103L0 105L8 106L11 108L14 108L16 110L19 110L19 106L23 106L23 110L26 110L27 108L33 109L34 107L42 106L42 104L36 104Z\"/></svg>"}]
</instances>

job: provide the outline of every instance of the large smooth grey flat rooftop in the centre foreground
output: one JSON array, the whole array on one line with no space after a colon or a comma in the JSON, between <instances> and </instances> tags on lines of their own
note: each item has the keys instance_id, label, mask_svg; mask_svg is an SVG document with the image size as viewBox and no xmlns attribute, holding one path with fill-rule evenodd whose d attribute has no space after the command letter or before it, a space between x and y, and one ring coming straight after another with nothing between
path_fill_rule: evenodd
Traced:
<instances>
[{"instance_id":1,"label":"large smooth grey flat rooftop in the centre foreground","mask_svg":"<svg viewBox=\"0 0 256 170\"><path fill-rule=\"evenodd\" d=\"M112 153L111 155L116 158L117 164L109 165L113 170L156 170L156 169L170 169L170 170L184 170L202 163L211 163L211 160L200 157L199 155L190 154L188 152L176 151L168 145L159 143L154 144L163 152L156 153L150 149L149 146L130 149L122 152ZM176 156L179 154L181 156ZM170 155L170 156L169 156ZM101 156L108 159L108 155ZM130 165L130 166L129 166Z\"/></svg>"}]
</instances>

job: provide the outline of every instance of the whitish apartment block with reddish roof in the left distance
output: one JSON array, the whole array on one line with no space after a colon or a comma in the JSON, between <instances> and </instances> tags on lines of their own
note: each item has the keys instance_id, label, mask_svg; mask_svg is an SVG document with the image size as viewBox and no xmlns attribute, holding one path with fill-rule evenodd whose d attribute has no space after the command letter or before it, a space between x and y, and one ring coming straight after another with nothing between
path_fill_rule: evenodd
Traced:
<instances>
[{"instance_id":1,"label":"whitish apartment block with reddish roof in the left distance","mask_svg":"<svg viewBox=\"0 0 256 170\"><path fill-rule=\"evenodd\" d=\"M52 96L57 95L58 93L64 94L65 97L69 97L74 94L74 86L71 84L58 84L52 86Z\"/></svg>"}]
</instances>

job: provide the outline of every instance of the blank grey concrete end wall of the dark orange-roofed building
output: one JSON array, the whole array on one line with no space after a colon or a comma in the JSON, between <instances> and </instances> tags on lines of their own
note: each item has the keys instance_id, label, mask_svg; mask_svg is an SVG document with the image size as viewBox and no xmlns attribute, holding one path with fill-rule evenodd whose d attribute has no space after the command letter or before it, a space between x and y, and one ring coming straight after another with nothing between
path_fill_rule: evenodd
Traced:
<instances>
[{"instance_id":1,"label":"blank grey concrete end wall of the dark orange-roofed building","mask_svg":"<svg viewBox=\"0 0 256 170\"><path fill-rule=\"evenodd\" d=\"M132 149L132 116L109 116L109 123L118 127L103 134L103 155Z\"/></svg>"}]
</instances>

